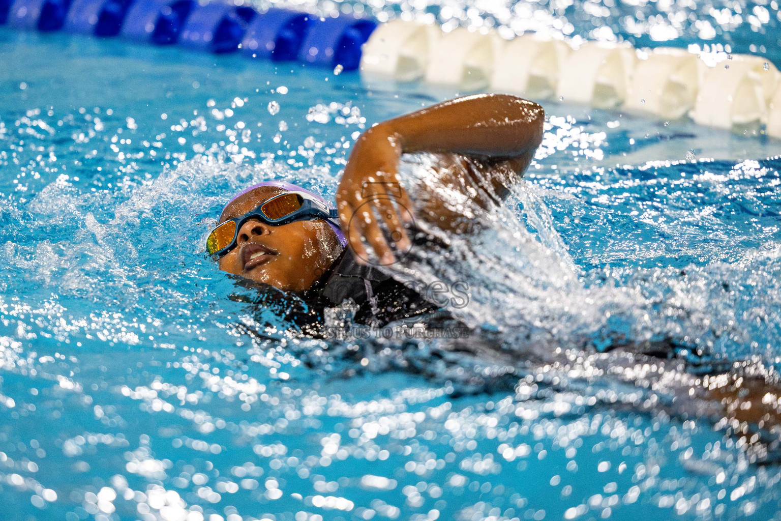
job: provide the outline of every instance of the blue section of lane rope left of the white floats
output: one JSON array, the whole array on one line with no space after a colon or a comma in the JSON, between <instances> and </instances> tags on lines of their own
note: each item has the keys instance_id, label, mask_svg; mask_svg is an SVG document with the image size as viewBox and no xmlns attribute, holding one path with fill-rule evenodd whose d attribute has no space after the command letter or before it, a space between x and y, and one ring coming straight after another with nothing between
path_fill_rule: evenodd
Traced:
<instances>
[{"instance_id":1,"label":"blue section of lane rope left of the white floats","mask_svg":"<svg viewBox=\"0 0 781 521\"><path fill-rule=\"evenodd\" d=\"M0 0L0 24L122 36L156 45L179 44L273 61L358 69L361 47L376 22L355 16L318 18L305 12L194 0Z\"/></svg>"}]
</instances>

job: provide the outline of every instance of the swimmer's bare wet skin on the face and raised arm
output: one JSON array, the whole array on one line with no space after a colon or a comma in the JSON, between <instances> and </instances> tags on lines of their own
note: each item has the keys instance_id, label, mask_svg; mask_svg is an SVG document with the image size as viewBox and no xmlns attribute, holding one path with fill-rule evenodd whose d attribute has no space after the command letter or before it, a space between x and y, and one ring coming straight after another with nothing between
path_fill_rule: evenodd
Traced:
<instances>
[{"instance_id":1,"label":"swimmer's bare wet skin on the face and raised arm","mask_svg":"<svg viewBox=\"0 0 781 521\"><path fill-rule=\"evenodd\" d=\"M366 130L355 142L337 191L341 228L348 234L357 262L374 258L387 264L394 259L394 248L409 246L402 225L408 219L389 198L373 197L383 194L385 184L398 185L401 154L444 152L434 184L462 191L470 198L485 198L487 192L506 193L526 170L542 141L543 123L544 111L537 103L511 95L484 94L433 105ZM480 179L462 164L465 159L483 165ZM379 192L366 189L377 186ZM476 191L469 191L469 187ZM279 188L259 187L243 194L223 211L220 222L244 215L279 193ZM415 195L424 202L423 219L461 233L455 223L462 216L448 210L437 190ZM412 208L407 194L402 191L400 197L399 203ZM481 204L480 200L476 203ZM383 228L391 233L384 234ZM396 243L391 244L388 237L397 237ZM262 255L251 259L259 252ZM336 234L323 220L280 227L248 221L239 230L237 248L219 260L219 269L282 290L304 291L339 253Z\"/></svg>"}]
</instances>

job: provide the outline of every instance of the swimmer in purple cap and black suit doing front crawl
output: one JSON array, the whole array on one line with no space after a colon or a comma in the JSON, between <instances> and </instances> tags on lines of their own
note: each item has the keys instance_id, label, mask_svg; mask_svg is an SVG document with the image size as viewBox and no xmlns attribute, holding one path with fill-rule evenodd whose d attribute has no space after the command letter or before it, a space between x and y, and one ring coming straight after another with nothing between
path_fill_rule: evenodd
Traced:
<instances>
[{"instance_id":1,"label":"swimmer in purple cap and black suit doing front crawl","mask_svg":"<svg viewBox=\"0 0 781 521\"><path fill-rule=\"evenodd\" d=\"M542 141L543 123L544 111L537 103L491 94L458 98L384 121L355 142L336 205L292 184L257 184L225 206L209 235L207 252L219 259L223 271L300 295L307 305L288 318L294 315L307 336L322 336L313 324L322 325L324 310L346 301L355 303L355 323L384 325L437 313L441 319L440 305L394 280L382 266L396 262L411 247L446 249L436 229L472 233L473 219L448 205L444 192L469 198L483 209L501 204L530 165ZM398 179L401 155L409 152L430 152L439 161L425 185L428 189L412 196ZM410 197L422 209L414 224ZM444 319L455 320L447 312ZM466 348L455 343L453 350L488 353L491 341L476 335ZM670 342L655 353L654 347L649 351L648 346L628 342L616 349L629 351L635 362L676 357ZM500 351L494 346L492 352ZM776 383L725 366L691 370L701 377L693 378L688 394L715 405L734 431L767 430L781 422ZM751 434L752 441L754 436L758 434ZM777 441L767 446L778 450Z\"/></svg>"}]
</instances>

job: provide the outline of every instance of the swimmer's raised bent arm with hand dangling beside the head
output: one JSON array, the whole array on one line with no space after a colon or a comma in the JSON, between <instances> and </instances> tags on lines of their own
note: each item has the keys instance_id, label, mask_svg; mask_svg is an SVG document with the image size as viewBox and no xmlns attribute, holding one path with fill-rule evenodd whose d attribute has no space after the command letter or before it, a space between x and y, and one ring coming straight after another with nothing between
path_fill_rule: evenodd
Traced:
<instances>
[{"instance_id":1,"label":"swimmer's raised bent arm with hand dangling beside the head","mask_svg":"<svg viewBox=\"0 0 781 521\"><path fill-rule=\"evenodd\" d=\"M392 198L377 198L383 184L398 186L398 160L405 152L453 152L486 167L491 186L504 197L522 175L543 136L544 111L537 103L511 95L483 94L458 98L384 121L358 137L337 192L340 219L358 259L366 259L362 237L383 263L394 255L380 223L396 246L408 247L398 208ZM469 176L467 169L451 175ZM449 183L442 178L443 183ZM412 208L400 188L402 205ZM365 204L366 203L366 204Z\"/></svg>"}]
</instances>

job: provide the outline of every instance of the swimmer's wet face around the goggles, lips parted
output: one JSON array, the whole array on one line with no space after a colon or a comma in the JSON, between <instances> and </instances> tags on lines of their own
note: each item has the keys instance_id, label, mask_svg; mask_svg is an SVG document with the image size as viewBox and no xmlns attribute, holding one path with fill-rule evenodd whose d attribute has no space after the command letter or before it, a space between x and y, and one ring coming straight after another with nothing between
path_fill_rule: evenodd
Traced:
<instances>
[{"instance_id":1,"label":"swimmer's wet face around the goggles, lips parted","mask_svg":"<svg viewBox=\"0 0 781 521\"><path fill-rule=\"evenodd\" d=\"M231 202L219 222L243 216L284 190L258 187ZM236 247L219 259L219 269L284 291L304 291L341 253L337 235L323 219L269 226L250 219L239 228Z\"/></svg>"}]
</instances>

